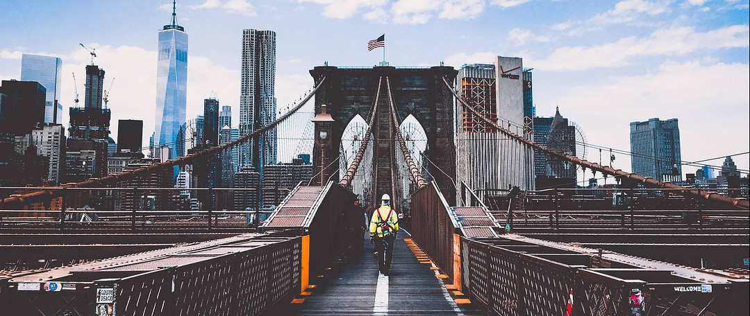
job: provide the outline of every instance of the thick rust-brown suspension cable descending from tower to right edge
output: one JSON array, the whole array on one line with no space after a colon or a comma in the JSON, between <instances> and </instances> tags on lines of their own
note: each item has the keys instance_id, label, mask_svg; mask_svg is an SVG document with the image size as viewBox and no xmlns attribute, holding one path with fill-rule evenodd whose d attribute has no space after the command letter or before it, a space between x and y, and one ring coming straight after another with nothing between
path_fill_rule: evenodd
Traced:
<instances>
[{"instance_id":1,"label":"thick rust-brown suspension cable descending from tower to right edge","mask_svg":"<svg viewBox=\"0 0 750 316\"><path fill-rule=\"evenodd\" d=\"M443 82L450 88L450 84L448 83L448 80L443 77ZM516 140L517 142L521 142L531 148L535 148L538 151L544 152L544 154L551 155L554 157L557 157L559 159L573 162L576 165L580 165L583 168L589 168L594 171L599 171L602 174L609 174L613 175L614 177L619 178L625 178L628 180L633 180L636 182L643 183L644 186L650 186L655 188L663 188L663 189L679 189L679 193L682 195L692 195L697 198L703 198L707 201L716 201L718 203L722 204L731 204L735 207L740 207L745 210L750 208L750 201L748 201L746 198L730 198L725 195L719 195L717 192L709 192L701 189L694 189L694 188L687 188L685 186L678 186L674 183L654 180L651 177L643 177L631 172L625 172L620 169L614 169L607 167L606 165L599 165L596 162L589 162L585 159L580 159L578 157L574 157L565 153L562 153L560 151L556 151L547 147L544 147L542 145L538 145L535 142L532 142L529 139L524 139L523 137L517 136L516 134L512 133L510 130L506 130L505 128L500 127L495 122L490 121L489 119L485 118L484 115L479 114L479 112L476 111L472 106L469 106L468 103L466 103L466 100L463 100L463 98L459 97L458 94L456 94L456 91L453 91L453 89L450 89L453 92L453 95L458 99L458 101L461 103L461 105L468 109L470 112L472 112L474 115L476 115L478 118L481 118L481 120L487 122L487 124L490 124L490 126L494 127L496 130L499 130L506 136L511 137L512 139Z\"/></svg>"}]
</instances>

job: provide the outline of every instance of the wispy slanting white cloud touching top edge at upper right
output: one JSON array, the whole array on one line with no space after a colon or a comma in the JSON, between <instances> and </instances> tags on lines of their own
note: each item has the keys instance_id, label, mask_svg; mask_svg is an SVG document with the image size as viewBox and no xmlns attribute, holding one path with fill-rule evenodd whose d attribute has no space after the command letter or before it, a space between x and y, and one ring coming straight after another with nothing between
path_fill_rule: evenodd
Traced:
<instances>
[{"instance_id":1,"label":"wispy slanting white cloud touching top edge at upper right","mask_svg":"<svg viewBox=\"0 0 750 316\"><path fill-rule=\"evenodd\" d=\"M617 2L613 9L607 10L604 13L598 13L589 19L561 22L552 28L562 31L578 26L578 28L571 30L570 34L580 34L583 31L598 28L600 25L631 22L641 14L653 16L664 13L667 10L669 10L668 1L624 0Z\"/></svg>"}]
</instances>

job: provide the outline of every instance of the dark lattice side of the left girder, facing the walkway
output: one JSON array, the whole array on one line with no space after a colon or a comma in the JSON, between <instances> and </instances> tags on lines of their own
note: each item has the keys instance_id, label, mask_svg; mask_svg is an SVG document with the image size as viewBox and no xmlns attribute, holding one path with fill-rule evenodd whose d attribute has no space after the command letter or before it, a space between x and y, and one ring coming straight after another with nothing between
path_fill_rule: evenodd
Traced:
<instances>
[{"instance_id":1,"label":"dark lattice side of the left girder, facing the walkway","mask_svg":"<svg viewBox=\"0 0 750 316\"><path fill-rule=\"evenodd\" d=\"M117 315L258 315L299 291L300 238L116 282ZM92 308L93 309L93 308Z\"/></svg>"}]
</instances>

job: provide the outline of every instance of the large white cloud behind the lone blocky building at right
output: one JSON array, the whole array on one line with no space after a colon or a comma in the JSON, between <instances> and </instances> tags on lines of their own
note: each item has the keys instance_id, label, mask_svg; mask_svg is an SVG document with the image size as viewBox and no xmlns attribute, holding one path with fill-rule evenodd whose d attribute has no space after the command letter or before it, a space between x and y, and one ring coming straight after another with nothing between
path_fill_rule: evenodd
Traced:
<instances>
[{"instance_id":1,"label":"large white cloud behind the lone blocky building at right","mask_svg":"<svg viewBox=\"0 0 750 316\"><path fill-rule=\"evenodd\" d=\"M629 123L649 118L679 120L683 160L735 154L728 151L745 151L750 143L748 64L667 61L655 73L594 82L601 83L566 89L556 100L591 144L628 149ZM618 156L616 163L630 169L628 157Z\"/></svg>"}]
</instances>

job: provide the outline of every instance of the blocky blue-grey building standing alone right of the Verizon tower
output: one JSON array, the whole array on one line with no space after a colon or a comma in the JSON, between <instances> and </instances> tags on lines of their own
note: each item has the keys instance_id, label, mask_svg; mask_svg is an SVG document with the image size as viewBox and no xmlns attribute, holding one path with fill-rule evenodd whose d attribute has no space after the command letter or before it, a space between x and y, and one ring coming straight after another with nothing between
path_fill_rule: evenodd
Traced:
<instances>
[{"instance_id":1,"label":"blocky blue-grey building standing alone right of the Verizon tower","mask_svg":"<svg viewBox=\"0 0 750 316\"><path fill-rule=\"evenodd\" d=\"M631 167L635 174L657 180L677 182L682 180L679 127L677 119L630 124Z\"/></svg>"}]
</instances>

